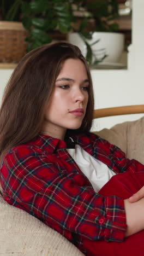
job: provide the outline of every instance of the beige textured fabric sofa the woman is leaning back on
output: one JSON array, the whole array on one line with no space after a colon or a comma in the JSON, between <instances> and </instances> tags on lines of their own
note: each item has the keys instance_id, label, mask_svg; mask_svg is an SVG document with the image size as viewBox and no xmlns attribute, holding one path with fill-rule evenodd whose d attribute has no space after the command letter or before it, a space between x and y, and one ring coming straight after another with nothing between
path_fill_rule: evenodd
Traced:
<instances>
[{"instance_id":1,"label":"beige textured fabric sofa the woman is leaning back on","mask_svg":"<svg viewBox=\"0 0 144 256\"><path fill-rule=\"evenodd\" d=\"M96 132L120 147L128 158L144 164L144 117ZM8 205L0 196L0 255L83 255L63 236L25 211Z\"/></svg>"}]
</instances>

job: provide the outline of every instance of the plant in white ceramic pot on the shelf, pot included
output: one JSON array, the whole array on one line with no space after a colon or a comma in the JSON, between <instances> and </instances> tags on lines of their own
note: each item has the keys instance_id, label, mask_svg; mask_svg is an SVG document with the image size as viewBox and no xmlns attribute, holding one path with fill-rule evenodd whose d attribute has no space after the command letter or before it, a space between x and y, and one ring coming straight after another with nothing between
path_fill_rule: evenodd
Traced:
<instances>
[{"instance_id":1,"label":"plant in white ceramic pot on the shelf, pot included","mask_svg":"<svg viewBox=\"0 0 144 256\"><path fill-rule=\"evenodd\" d=\"M89 31L91 38L87 38L85 33L81 34L78 29L74 34L69 34L70 42L75 42L85 56L89 51L90 65L119 62L124 49L124 35L118 33L118 24L115 22L118 18L118 0L87 0L81 6L89 14L85 18L85 30L92 21Z\"/></svg>"}]
</instances>

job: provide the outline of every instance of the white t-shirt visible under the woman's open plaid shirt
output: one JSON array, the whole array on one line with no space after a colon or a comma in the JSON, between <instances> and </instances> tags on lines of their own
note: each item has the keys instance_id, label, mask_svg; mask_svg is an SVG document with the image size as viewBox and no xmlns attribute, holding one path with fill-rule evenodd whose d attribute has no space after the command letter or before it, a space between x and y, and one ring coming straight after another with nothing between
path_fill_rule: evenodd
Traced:
<instances>
[{"instance_id":1,"label":"white t-shirt visible under the woman's open plaid shirt","mask_svg":"<svg viewBox=\"0 0 144 256\"><path fill-rule=\"evenodd\" d=\"M75 148L67 150L97 193L116 174L107 165L88 154L79 145L75 145Z\"/></svg>"}]
</instances>

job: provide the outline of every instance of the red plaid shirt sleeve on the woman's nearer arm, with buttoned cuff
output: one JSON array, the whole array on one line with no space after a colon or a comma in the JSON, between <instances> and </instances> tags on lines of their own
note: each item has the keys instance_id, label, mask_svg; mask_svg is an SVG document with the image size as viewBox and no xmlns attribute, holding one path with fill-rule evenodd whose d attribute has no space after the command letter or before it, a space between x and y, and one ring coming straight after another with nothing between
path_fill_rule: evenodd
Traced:
<instances>
[{"instance_id":1,"label":"red plaid shirt sleeve on the woman's nearer arm, with buttoned cuff","mask_svg":"<svg viewBox=\"0 0 144 256\"><path fill-rule=\"evenodd\" d=\"M127 228L124 201L101 196L86 185L85 176L65 172L53 154L19 146L1 168L4 199L73 241L73 234L90 240L123 241Z\"/></svg>"}]
</instances>

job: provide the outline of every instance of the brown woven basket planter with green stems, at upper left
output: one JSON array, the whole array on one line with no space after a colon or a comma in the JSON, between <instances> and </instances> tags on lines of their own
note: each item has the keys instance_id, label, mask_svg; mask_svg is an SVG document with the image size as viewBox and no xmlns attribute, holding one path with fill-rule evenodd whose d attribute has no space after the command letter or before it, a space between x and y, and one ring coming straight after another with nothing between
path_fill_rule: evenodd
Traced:
<instances>
[{"instance_id":1,"label":"brown woven basket planter with green stems, at upper left","mask_svg":"<svg viewBox=\"0 0 144 256\"><path fill-rule=\"evenodd\" d=\"M5 2L0 5L0 62L16 63L26 54L27 31L21 23L21 0Z\"/></svg>"}]
</instances>

